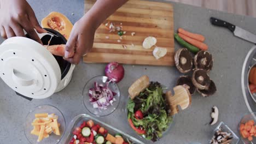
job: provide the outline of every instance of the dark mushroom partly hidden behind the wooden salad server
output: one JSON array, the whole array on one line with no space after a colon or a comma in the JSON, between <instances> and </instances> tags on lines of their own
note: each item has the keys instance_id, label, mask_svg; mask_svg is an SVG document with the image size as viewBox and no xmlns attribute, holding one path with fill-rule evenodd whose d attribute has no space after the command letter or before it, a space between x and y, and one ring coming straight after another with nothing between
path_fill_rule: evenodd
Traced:
<instances>
[{"instance_id":1,"label":"dark mushroom partly hidden behind the wooden salad server","mask_svg":"<svg viewBox=\"0 0 256 144\"><path fill-rule=\"evenodd\" d=\"M196 88L192 83L191 77L190 76L181 76L176 82L176 86L182 85L185 87L188 87L189 93L192 95L195 93Z\"/></svg>"}]
</instances>

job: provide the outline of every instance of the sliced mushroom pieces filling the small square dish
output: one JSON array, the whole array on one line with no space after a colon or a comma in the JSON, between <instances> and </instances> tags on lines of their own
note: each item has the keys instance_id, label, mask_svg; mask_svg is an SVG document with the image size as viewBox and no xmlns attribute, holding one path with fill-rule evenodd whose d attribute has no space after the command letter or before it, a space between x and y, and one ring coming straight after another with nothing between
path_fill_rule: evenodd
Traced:
<instances>
[{"instance_id":1,"label":"sliced mushroom pieces filling the small square dish","mask_svg":"<svg viewBox=\"0 0 256 144\"><path fill-rule=\"evenodd\" d=\"M232 133L228 133L223 131L223 128L220 127L214 133L212 140L210 141L211 144L230 144L232 142Z\"/></svg>"}]
</instances>

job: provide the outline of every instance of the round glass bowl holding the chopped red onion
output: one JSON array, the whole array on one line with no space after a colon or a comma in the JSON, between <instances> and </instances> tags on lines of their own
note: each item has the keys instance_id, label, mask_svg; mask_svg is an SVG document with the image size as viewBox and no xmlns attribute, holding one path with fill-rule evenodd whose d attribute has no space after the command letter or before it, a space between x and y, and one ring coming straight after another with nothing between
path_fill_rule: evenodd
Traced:
<instances>
[{"instance_id":1,"label":"round glass bowl holding the chopped red onion","mask_svg":"<svg viewBox=\"0 0 256 144\"><path fill-rule=\"evenodd\" d=\"M109 82L108 87L110 88L110 90L112 92L116 93L116 95L114 96L116 101L114 101L112 105L107 106L106 110L94 108L94 106L91 104L91 101L89 100L89 89L94 87L94 82L103 83L104 85L106 85L106 83ZM120 102L119 87L118 87L117 83L115 83L114 81L109 79L109 77L107 77L107 76L96 76L96 77L93 77L84 86L84 89L83 89L83 102L84 102L84 106L86 107L86 109L90 113L92 113L93 115L96 115L96 116L107 116L107 115L110 115L111 113L113 113L117 109L117 107L119 105L119 102Z\"/></svg>"}]
</instances>

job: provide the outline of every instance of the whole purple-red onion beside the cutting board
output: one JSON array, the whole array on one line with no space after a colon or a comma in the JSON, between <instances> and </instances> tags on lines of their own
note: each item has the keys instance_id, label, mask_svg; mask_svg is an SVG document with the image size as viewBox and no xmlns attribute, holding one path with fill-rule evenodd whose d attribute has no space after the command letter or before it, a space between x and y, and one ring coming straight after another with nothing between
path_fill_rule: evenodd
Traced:
<instances>
[{"instance_id":1,"label":"whole purple-red onion beside the cutting board","mask_svg":"<svg viewBox=\"0 0 256 144\"><path fill-rule=\"evenodd\" d=\"M117 62L109 63L105 68L105 76L114 82L119 82L124 78L124 67Z\"/></svg>"}]
</instances>

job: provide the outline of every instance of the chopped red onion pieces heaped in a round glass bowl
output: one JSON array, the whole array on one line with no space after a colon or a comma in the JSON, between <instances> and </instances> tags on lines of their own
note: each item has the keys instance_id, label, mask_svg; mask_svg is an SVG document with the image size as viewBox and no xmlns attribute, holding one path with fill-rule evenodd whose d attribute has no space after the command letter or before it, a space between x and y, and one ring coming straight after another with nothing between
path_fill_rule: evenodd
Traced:
<instances>
[{"instance_id":1,"label":"chopped red onion pieces heaped in a round glass bowl","mask_svg":"<svg viewBox=\"0 0 256 144\"><path fill-rule=\"evenodd\" d=\"M117 93L111 91L108 87L109 81L104 85L103 83L94 82L94 87L89 89L89 97L91 104L94 108L107 109L107 106L112 105L116 99L114 98Z\"/></svg>"}]
</instances>

